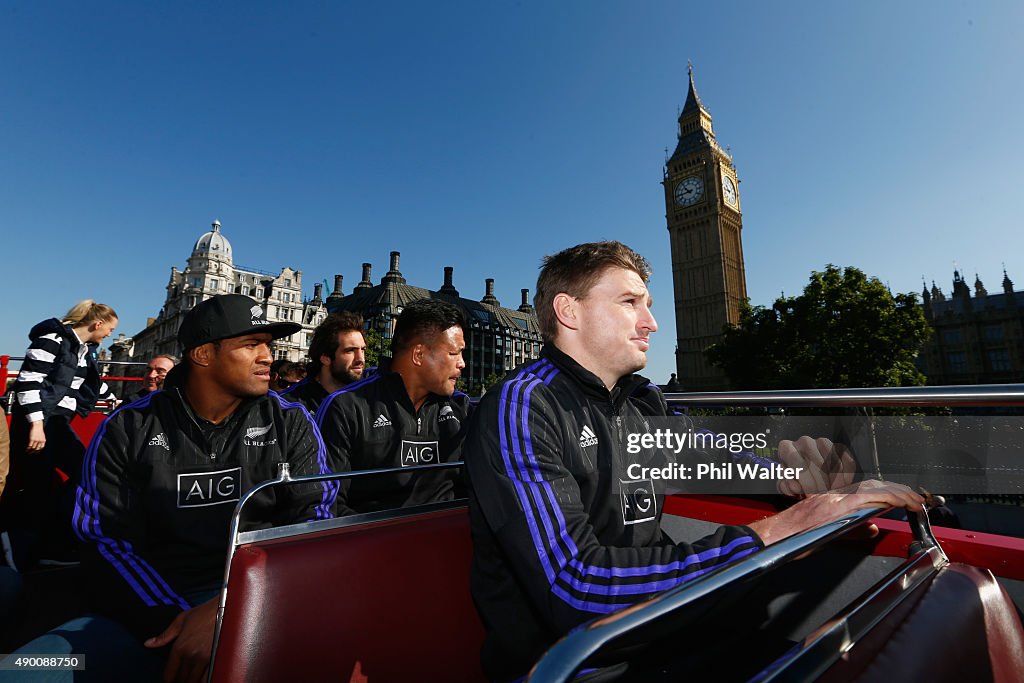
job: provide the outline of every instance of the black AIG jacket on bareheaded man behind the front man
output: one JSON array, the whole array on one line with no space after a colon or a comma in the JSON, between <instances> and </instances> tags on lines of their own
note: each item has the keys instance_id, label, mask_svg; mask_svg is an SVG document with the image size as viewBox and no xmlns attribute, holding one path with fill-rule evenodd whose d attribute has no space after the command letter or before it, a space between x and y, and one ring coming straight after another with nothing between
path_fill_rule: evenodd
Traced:
<instances>
[{"instance_id":1,"label":"black AIG jacket on bareheaded man behind the front man","mask_svg":"<svg viewBox=\"0 0 1024 683\"><path fill-rule=\"evenodd\" d=\"M345 481L338 516L449 501L456 470L426 474L419 465L459 460L469 397L431 394L419 412L397 373L382 372L335 391L321 403L316 425L335 472L395 468L390 474Z\"/></svg>"}]
</instances>

